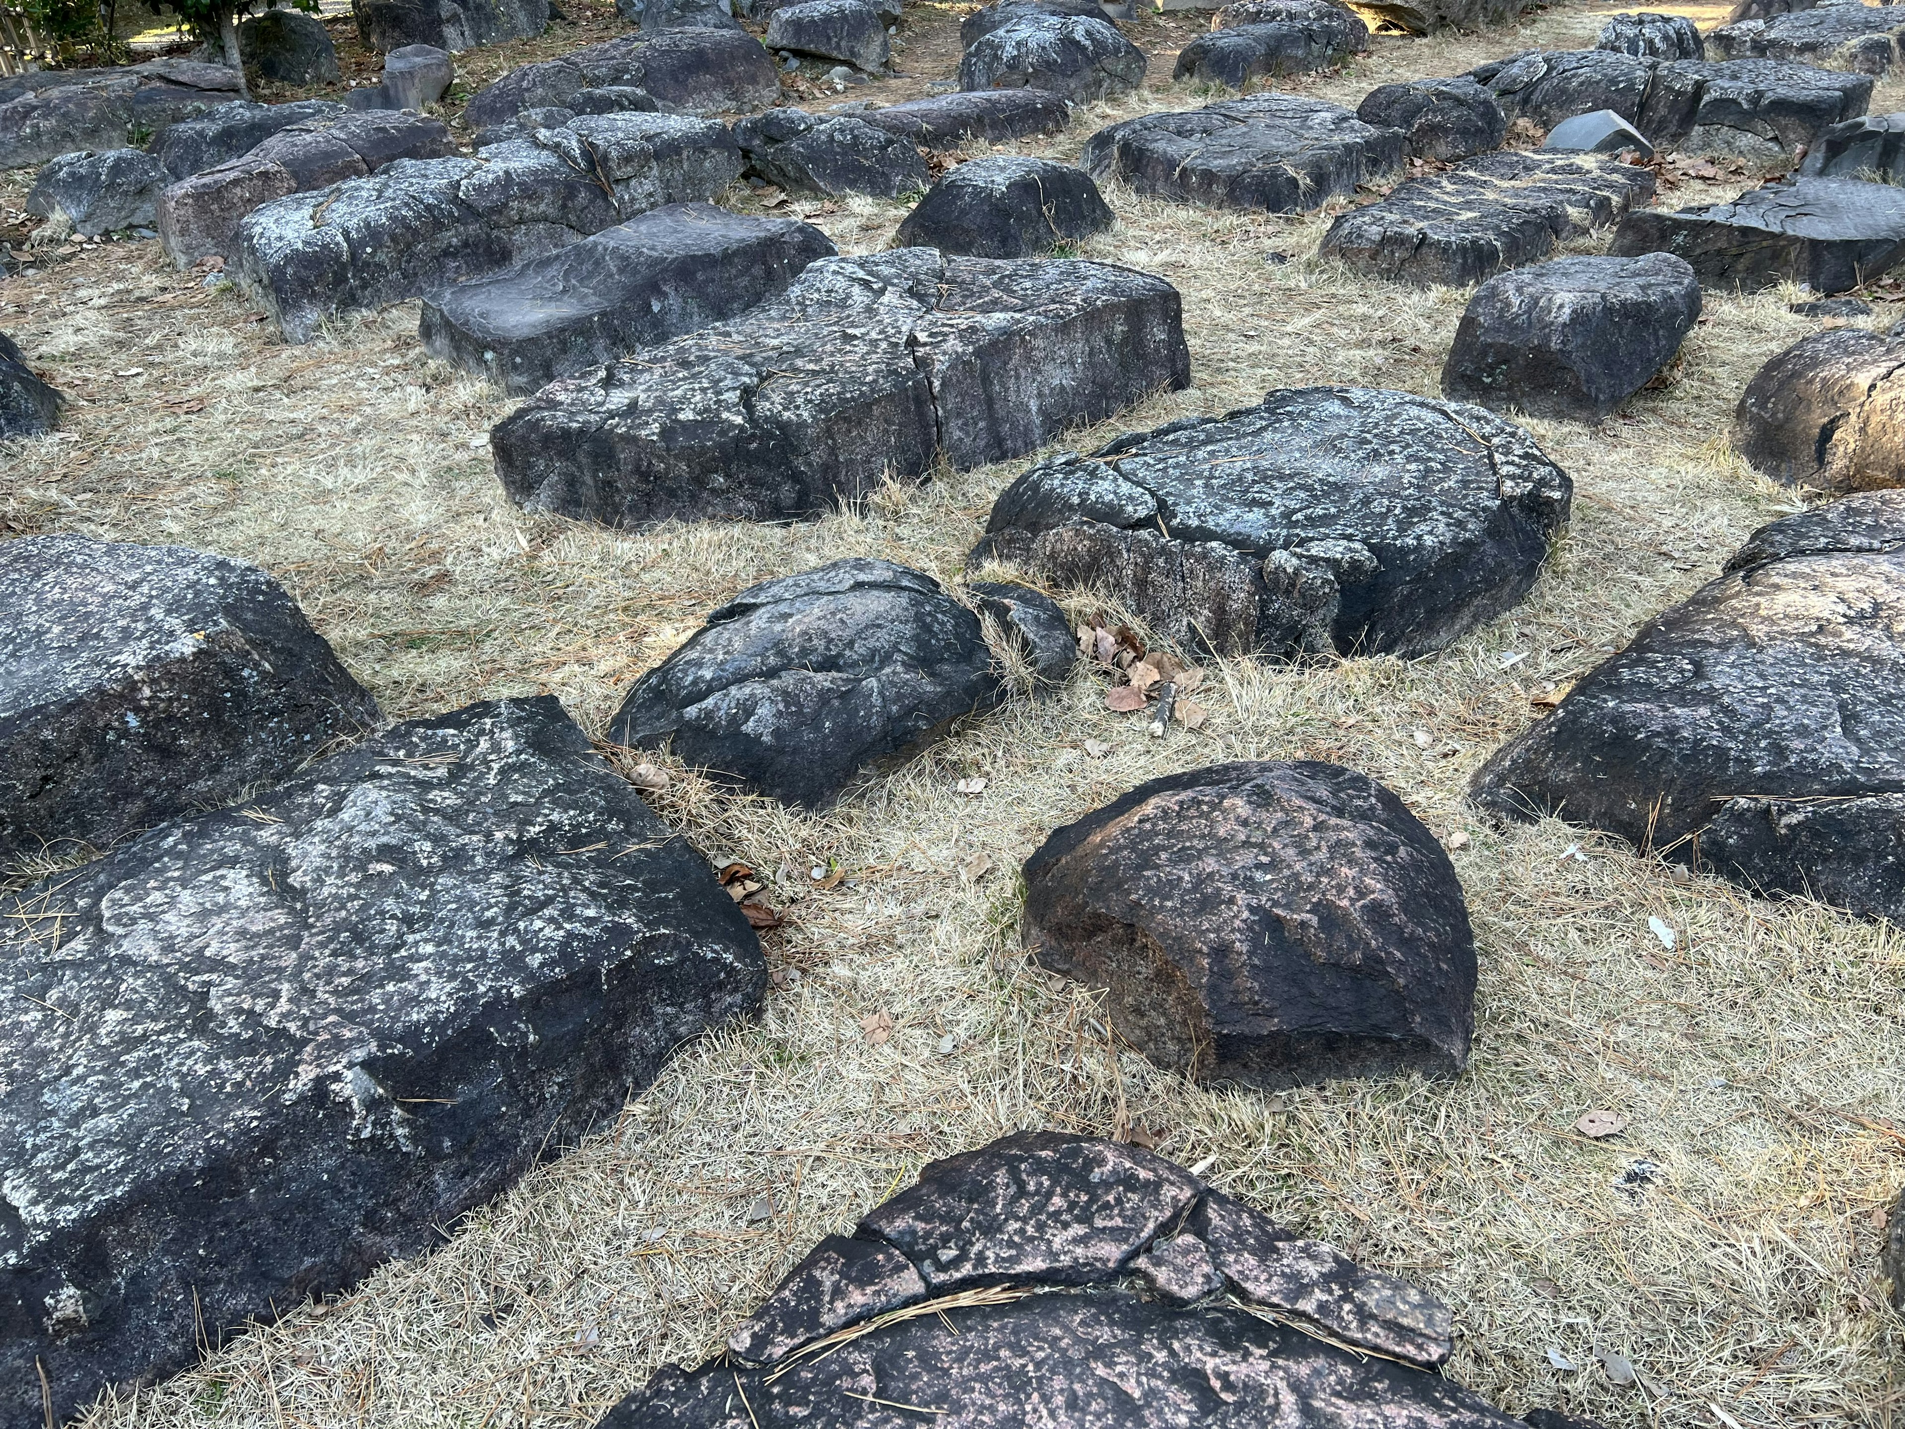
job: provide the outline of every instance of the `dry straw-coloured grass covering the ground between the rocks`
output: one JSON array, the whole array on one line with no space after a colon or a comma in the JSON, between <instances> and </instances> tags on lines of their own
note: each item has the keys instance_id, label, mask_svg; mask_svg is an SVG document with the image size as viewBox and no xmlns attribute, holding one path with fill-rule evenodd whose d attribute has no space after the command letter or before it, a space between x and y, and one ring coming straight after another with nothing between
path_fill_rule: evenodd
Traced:
<instances>
[{"instance_id":1,"label":"dry straw-coloured grass covering the ground between the rocks","mask_svg":"<svg viewBox=\"0 0 1905 1429\"><path fill-rule=\"evenodd\" d=\"M1602 13L1553 10L1513 36L1383 38L1354 74L1305 90L1354 101L1402 74L1579 44ZM1105 118L1187 99L1149 93L1029 149L1071 156ZM1436 389L1463 293L1377 288L1314 261L1326 215L1111 200L1122 223L1086 252L1179 286L1196 387L1076 442L1278 385ZM17 189L0 202L17 206ZM852 202L815 221L863 252L901 211ZM1271 252L1293 261L1267 265ZM1474 766L1534 716L1535 688L1596 663L1793 505L1726 444L1751 372L1810 330L1789 297L1709 295L1674 385L1596 431L1532 423L1575 478L1574 526L1526 604L1438 657L1227 665L1206 730L1162 741L1105 713L1078 674L827 815L676 781L669 817L712 857L773 871L789 903L760 1019L684 1048L617 1126L432 1256L236 1336L95 1423L581 1423L663 1360L716 1347L804 1246L928 1157L1019 1126L1109 1132L1120 1117L1280 1219L1446 1296L1461 1326L1452 1374L1513 1410L1888 1423L1899 1324L1875 1254L1878 1210L1905 1183L1888 1120L1905 1092L1897 932L1755 901L1556 823L1495 831L1463 804ZM63 436L8 453L4 530L257 560L391 716L554 692L600 732L629 682L749 581L852 553L952 577L1025 465L804 526L625 535L503 499L480 438L511 404L421 354L413 305L288 349L150 246L8 282L0 305L0 326L84 402ZM112 375L131 368L145 372ZM1090 756L1086 737L1111 753ZM1053 825L1170 770L1297 755L1366 770L1444 838L1469 836L1454 857L1482 981L1459 1080L1274 1097L1189 1086L1114 1056L1092 998L1019 955L1013 869ZM954 793L966 775L987 791ZM991 869L973 876L977 855ZM853 876L804 892L829 861ZM1674 949L1650 916L1676 930ZM897 1033L871 1046L859 1017L880 1008ZM1577 1137L1591 1107L1621 1111L1629 1132ZM1652 1179L1617 1187L1640 1162ZM779 1210L747 1225L762 1193ZM1610 1385L1594 1343L1663 1397ZM1551 1347L1581 1368L1553 1368Z\"/></svg>"}]
</instances>

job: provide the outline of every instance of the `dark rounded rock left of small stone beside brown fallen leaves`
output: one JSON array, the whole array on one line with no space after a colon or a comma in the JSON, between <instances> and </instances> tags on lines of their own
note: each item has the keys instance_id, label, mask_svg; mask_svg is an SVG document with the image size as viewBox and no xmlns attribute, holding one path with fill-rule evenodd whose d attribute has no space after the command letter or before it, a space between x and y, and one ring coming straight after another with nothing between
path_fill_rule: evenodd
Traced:
<instances>
[{"instance_id":1,"label":"dark rounded rock left of small stone beside brown fallen leaves","mask_svg":"<svg viewBox=\"0 0 1905 1429\"><path fill-rule=\"evenodd\" d=\"M716 610L636 680L610 737L825 808L861 768L903 760L1004 697L973 612L932 575L853 556Z\"/></svg>"}]
</instances>

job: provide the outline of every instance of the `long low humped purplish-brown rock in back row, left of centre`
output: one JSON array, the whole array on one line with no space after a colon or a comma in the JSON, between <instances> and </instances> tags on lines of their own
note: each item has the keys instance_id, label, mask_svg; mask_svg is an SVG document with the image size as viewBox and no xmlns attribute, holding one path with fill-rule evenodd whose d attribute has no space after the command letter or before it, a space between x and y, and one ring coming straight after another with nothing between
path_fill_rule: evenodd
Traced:
<instances>
[{"instance_id":1,"label":"long low humped purplish-brown rock in back row, left of centre","mask_svg":"<svg viewBox=\"0 0 1905 1429\"><path fill-rule=\"evenodd\" d=\"M781 95L773 61L751 34L676 29L625 34L512 69L463 109L471 128L507 124L522 109L564 105L579 90L646 90L684 114L762 109Z\"/></svg>"}]
</instances>

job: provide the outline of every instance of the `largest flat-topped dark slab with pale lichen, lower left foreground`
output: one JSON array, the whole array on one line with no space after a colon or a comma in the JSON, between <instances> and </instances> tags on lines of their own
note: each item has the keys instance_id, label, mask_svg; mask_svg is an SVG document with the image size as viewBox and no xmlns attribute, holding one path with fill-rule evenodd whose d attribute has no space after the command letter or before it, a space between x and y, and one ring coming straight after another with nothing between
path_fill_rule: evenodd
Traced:
<instances>
[{"instance_id":1,"label":"largest flat-topped dark slab with pale lichen, lower left foreground","mask_svg":"<svg viewBox=\"0 0 1905 1429\"><path fill-rule=\"evenodd\" d=\"M8 901L6 1423L42 1416L36 1360L63 1421L438 1242L766 985L707 863L547 695Z\"/></svg>"}]
</instances>

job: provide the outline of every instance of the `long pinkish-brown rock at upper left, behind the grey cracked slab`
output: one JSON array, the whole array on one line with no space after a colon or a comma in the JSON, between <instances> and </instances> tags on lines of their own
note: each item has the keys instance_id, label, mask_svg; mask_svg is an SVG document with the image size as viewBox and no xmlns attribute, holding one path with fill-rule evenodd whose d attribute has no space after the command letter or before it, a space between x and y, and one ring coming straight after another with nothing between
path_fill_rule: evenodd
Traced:
<instances>
[{"instance_id":1,"label":"long pinkish-brown rock at upper left, behind the grey cracked slab","mask_svg":"<svg viewBox=\"0 0 1905 1429\"><path fill-rule=\"evenodd\" d=\"M400 158L453 152L450 130L419 114L339 111L291 124L242 158L168 185L156 204L158 242L181 269L213 253L229 257L238 225L261 204L360 179Z\"/></svg>"}]
</instances>

